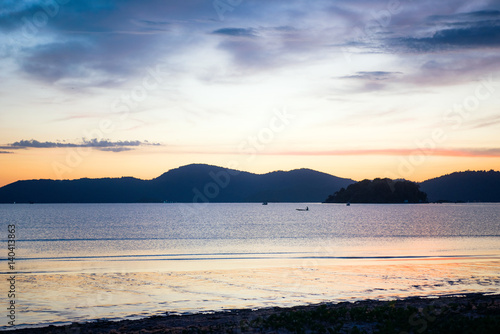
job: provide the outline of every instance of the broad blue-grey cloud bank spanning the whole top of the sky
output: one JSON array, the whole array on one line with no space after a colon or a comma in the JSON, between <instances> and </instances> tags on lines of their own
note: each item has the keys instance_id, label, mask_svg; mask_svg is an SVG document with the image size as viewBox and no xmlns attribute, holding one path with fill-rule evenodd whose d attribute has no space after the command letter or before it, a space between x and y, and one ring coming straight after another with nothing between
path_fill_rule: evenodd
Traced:
<instances>
[{"instance_id":1,"label":"broad blue-grey cloud bank spanning the whole top of the sky","mask_svg":"<svg viewBox=\"0 0 500 334\"><path fill-rule=\"evenodd\" d=\"M60 5L31 38L23 38L23 20L44 13L45 3L9 1L0 9L0 33L19 40L11 57L22 74L77 88L119 86L148 66L170 59L179 64L184 54L212 47L228 53L231 65L242 70L238 73L252 75L331 59L339 54L332 46L402 57L500 46L500 8L494 1L401 1L388 23L379 24L390 1L242 1L220 21L213 1L73 0ZM370 24L376 29L365 29ZM419 60L408 61L418 66ZM385 80L383 72L360 72L351 79Z\"/></svg>"}]
</instances>

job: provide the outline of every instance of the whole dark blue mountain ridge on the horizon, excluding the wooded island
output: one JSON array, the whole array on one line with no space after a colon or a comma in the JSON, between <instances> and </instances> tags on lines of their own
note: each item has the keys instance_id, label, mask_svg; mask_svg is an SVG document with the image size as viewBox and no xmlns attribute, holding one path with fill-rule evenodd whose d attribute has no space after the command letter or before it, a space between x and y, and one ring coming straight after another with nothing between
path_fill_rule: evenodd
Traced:
<instances>
[{"instance_id":1,"label":"whole dark blue mountain ridge on the horizon, excluding the wooded island","mask_svg":"<svg viewBox=\"0 0 500 334\"><path fill-rule=\"evenodd\" d=\"M0 203L323 202L356 181L308 168L255 174L207 164L131 176L22 180L0 188ZM435 201L500 202L500 172L462 171L418 183Z\"/></svg>"}]
</instances>

